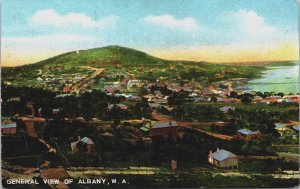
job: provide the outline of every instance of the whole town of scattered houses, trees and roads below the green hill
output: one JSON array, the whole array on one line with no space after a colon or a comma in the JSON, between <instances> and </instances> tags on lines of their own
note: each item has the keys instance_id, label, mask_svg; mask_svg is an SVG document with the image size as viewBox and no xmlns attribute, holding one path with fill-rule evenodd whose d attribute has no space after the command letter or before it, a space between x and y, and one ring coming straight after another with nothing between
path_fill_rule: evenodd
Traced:
<instances>
[{"instance_id":1,"label":"whole town of scattered houses, trees and roads below the green hill","mask_svg":"<svg viewBox=\"0 0 300 189\"><path fill-rule=\"evenodd\" d=\"M3 180L76 188L63 180L129 175L145 187L152 176L177 175L170 179L189 187L216 187L210 177L242 180L231 187L298 184L299 94L253 91L249 78L226 77L231 68L212 78L145 79L117 67L47 65L30 86L4 77Z\"/></svg>"}]
</instances>

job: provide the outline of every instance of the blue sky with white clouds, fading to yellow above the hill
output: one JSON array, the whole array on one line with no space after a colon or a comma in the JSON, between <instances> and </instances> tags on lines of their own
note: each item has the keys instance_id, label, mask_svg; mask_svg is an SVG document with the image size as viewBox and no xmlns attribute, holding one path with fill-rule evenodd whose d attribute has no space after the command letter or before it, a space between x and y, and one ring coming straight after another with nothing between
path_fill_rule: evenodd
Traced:
<instances>
[{"instance_id":1,"label":"blue sky with white clouds, fading to yellow above the hill","mask_svg":"<svg viewBox=\"0 0 300 189\"><path fill-rule=\"evenodd\" d=\"M3 0L1 64L107 45L172 60L298 60L297 8L296 0Z\"/></svg>"}]
</instances>

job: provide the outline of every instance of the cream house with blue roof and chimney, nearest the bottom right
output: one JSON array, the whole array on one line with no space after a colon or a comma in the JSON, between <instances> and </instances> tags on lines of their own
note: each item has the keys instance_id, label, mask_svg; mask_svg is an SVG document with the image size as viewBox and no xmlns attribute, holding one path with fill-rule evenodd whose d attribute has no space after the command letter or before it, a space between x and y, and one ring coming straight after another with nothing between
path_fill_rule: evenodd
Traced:
<instances>
[{"instance_id":1,"label":"cream house with blue roof and chimney, nearest the bottom right","mask_svg":"<svg viewBox=\"0 0 300 189\"><path fill-rule=\"evenodd\" d=\"M238 157L237 155L217 148L217 151L212 153L209 151L208 162L219 168L238 168Z\"/></svg>"}]
</instances>

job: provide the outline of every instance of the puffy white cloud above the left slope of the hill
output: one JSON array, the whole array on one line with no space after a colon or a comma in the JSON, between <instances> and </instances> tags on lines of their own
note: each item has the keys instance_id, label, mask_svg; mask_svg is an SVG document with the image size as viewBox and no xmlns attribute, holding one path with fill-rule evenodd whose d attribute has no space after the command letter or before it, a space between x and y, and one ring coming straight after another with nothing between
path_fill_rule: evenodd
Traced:
<instances>
[{"instance_id":1,"label":"puffy white cloud above the left slope of the hill","mask_svg":"<svg viewBox=\"0 0 300 189\"><path fill-rule=\"evenodd\" d=\"M117 21L116 16L107 16L99 20L93 20L83 13L58 14L53 9L39 10L29 19L29 23L35 26L69 27L79 26L84 28L106 28Z\"/></svg>"}]
</instances>

